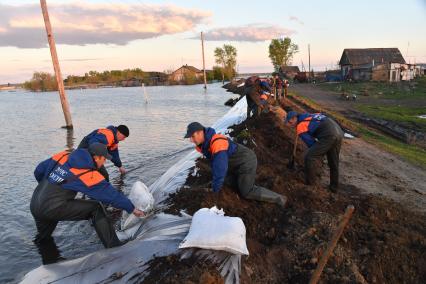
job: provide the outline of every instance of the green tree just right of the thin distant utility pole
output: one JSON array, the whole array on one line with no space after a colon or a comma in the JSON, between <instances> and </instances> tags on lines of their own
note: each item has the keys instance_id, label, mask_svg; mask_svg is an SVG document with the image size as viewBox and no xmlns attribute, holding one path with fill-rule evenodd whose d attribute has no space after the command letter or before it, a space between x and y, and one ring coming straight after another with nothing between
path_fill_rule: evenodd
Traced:
<instances>
[{"instance_id":1,"label":"green tree just right of the thin distant utility pole","mask_svg":"<svg viewBox=\"0 0 426 284\"><path fill-rule=\"evenodd\" d=\"M214 56L216 64L222 68L222 82L225 77L231 80L236 74L237 49L230 44L224 44L223 47L216 47Z\"/></svg>"}]
</instances>

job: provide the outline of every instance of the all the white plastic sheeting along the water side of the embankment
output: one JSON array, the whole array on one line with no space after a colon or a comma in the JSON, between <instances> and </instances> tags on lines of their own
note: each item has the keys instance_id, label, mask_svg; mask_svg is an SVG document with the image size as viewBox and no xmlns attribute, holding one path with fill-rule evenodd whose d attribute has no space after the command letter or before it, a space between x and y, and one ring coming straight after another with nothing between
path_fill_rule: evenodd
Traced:
<instances>
[{"instance_id":1,"label":"all the white plastic sheeting along the water side of the embankment","mask_svg":"<svg viewBox=\"0 0 426 284\"><path fill-rule=\"evenodd\" d=\"M246 118L247 101L240 100L212 127L225 133L234 124ZM195 160L200 154L193 150L167 170L151 187L155 207L170 193L183 186ZM154 256L178 253L178 245L188 233L191 217L159 213L141 220L137 226L119 232L121 239L133 237L127 244L104 249L87 256L55 264L40 266L24 276L22 283L139 283L148 274L147 262ZM183 257L192 255L193 250L182 251ZM198 250L194 254L219 265L226 283L238 283L241 256L226 252Z\"/></svg>"}]
</instances>

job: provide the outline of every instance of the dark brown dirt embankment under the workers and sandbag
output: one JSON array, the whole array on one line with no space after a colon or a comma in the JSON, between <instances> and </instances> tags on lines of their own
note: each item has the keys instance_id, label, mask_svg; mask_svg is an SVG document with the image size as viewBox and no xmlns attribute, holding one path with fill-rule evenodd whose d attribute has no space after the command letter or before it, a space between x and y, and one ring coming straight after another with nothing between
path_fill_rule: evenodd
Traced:
<instances>
[{"instance_id":1,"label":"dark brown dirt embankment under the workers and sandbag","mask_svg":"<svg viewBox=\"0 0 426 284\"><path fill-rule=\"evenodd\" d=\"M234 126L235 139L258 157L256 183L288 197L288 206L249 201L224 186L218 201L229 216L239 216L247 229L250 256L243 257L241 283L307 283L346 206L355 213L321 277L322 283L424 283L426 279L426 218L384 197L343 185L337 193L324 186L306 186L301 166L286 167L292 150L291 131L276 114L262 114ZM297 152L303 164L303 146ZM211 170L197 162L196 177L172 195L169 212L193 214L215 205L206 190ZM326 169L319 171L319 175ZM221 283L214 267L195 258L172 256L152 262L147 283Z\"/></svg>"}]
</instances>

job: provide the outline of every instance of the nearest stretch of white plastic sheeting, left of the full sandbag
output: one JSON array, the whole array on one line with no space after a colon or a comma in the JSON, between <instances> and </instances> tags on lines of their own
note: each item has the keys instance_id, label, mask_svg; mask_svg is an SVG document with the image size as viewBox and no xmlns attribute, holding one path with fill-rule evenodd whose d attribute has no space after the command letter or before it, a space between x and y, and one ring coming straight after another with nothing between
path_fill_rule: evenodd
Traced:
<instances>
[{"instance_id":1,"label":"nearest stretch of white plastic sheeting, left of the full sandbag","mask_svg":"<svg viewBox=\"0 0 426 284\"><path fill-rule=\"evenodd\" d=\"M148 268L146 263L154 256L176 252L189 230L191 216L160 213L144 221L137 240L85 257L40 266L26 274L21 283L137 283Z\"/></svg>"}]
</instances>

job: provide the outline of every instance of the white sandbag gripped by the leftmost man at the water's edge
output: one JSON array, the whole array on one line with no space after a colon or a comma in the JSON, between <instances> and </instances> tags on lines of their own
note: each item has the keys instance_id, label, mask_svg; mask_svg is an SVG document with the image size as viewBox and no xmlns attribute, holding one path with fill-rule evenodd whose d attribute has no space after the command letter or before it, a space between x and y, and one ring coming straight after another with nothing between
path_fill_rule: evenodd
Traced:
<instances>
[{"instance_id":1,"label":"white sandbag gripped by the leftmost man at the water's edge","mask_svg":"<svg viewBox=\"0 0 426 284\"><path fill-rule=\"evenodd\" d=\"M141 181L137 181L133 184L132 190L129 194L129 199L137 209L142 210L145 213L148 213L154 208L154 197L148 187ZM125 221L122 223L121 229L125 230L131 228L136 225L140 219L141 218L138 218L133 214L124 212L122 220Z\"/></svg>"}]
</instances>

